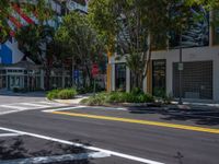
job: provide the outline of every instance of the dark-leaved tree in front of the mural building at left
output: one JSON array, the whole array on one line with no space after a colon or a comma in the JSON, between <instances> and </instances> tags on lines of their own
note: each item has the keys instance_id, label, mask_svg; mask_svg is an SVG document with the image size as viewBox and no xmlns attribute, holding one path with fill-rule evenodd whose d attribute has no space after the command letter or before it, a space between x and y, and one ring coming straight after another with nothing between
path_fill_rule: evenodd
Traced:
<instances>
[{"instance_id":1,"label":"dark-leaved tree in front of the mural building at left","mask_svg":"<svg viewBox=\"0 0 219 164\"><path fill-rule=\"evenodd\" d=\"M57 54L51 50L54 45L55 30L48 25L27 25L20 28L15 38L20 50L24 54L24 60L30 58L36 65L42 65L46 74L46 90L49 90L50 69Z\"/></svg>"}]
</instances>

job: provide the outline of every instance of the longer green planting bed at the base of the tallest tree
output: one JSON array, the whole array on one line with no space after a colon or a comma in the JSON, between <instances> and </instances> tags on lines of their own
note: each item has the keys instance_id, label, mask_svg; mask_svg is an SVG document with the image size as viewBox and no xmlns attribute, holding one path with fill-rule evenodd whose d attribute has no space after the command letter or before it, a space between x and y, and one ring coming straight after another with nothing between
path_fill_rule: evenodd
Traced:
<instances>
[{"instance_id":1,"label":"longer green planting bed at the base of the tallest tree","mask_svg":"<svg viewBox=\"0 0 219 164\"><path fill-rule=\"evenodd\" d=\"M154 102L153 96L145 94L142 92L112 92L112 93L99 93L95 96L91 96L83 99L81 103L87 105L104 105L113 103L151 103Z\"/></svg>"}]
</instances>

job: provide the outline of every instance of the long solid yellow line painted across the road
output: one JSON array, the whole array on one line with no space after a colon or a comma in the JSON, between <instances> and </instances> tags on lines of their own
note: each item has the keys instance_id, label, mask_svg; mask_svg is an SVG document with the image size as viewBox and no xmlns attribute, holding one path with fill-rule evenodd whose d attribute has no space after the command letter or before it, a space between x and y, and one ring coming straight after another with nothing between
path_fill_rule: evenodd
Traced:
<instances>
[{"instance_id":1,"label":"long solid yellow line painted across the road","mask_svg":"<svg viewBox=\"0 0 219 164\"><path fill-rule=\"evenodd\" d=\"M72 117L102 119L102 120L113 120L113 121L122 121L122 122L130 122L130 124L139 124L139 125L148 125L148 126L157 126L157 127L165 127L165 128L174 128L174 129L183 129L183 130L192 130L192 131L209 132L209 133L219 134L219 129L175 125L175 124L168 124L168 122L160 122L160 121L110 117L110 116L99 116L99 115L88 115L88 114L78 114L78 113L67 113L67 112L51 112L51 114L67 115L67 116L72 116Z\"/></svg>"}]
</instances>

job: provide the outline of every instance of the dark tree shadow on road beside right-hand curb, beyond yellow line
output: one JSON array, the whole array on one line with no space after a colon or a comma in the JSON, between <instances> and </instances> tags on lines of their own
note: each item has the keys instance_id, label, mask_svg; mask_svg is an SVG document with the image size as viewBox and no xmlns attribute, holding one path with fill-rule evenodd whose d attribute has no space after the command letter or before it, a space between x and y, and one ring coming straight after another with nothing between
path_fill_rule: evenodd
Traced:
<instances>
[{"instance_id":1,"label":"dark tree shadow on road beside right-hand curb, beyond yellow line","mask_svg":"<svg viewBox=\"0 0 219 164\"><path fill-rule=\"evenodd\" d=\"M189 120L196 125L218 126L219 109L163 109L150 107L129 107L130 114L158 115L160 119L172 121Z\"/></svg>"}]
</instances>

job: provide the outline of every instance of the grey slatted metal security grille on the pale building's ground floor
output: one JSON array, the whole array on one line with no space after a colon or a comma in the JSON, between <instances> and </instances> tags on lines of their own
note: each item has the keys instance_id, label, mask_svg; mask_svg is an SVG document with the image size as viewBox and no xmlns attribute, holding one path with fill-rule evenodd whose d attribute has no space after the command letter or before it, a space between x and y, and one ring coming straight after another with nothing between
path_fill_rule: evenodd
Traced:
<instances>
[{"instance_id":1,"label":"grey slatted metal security grille on the pale building's ground floor","mask_svg":"<svg viewBox=\"0 0 219 164\"><path fill-rule=\"evenodd\" d=\"M180 96L177 62L173 63L173 95ZM212 99L212 61L184 62L182 71L184 98Z\"/></svg>"}]
</instances>

